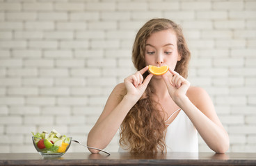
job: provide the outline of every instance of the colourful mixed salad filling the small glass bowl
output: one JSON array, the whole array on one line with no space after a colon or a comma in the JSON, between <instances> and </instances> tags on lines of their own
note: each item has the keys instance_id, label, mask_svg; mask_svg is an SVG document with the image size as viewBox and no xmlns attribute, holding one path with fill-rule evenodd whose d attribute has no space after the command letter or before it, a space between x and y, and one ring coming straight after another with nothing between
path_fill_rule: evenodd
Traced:
<instances>
[{"instance_id":1,"label":"colourful mixed salad filling the small glass bowl","mask_svg":"<svg viewBox=\"0 0 256 166\"><path fill-rule=\"evenodd\" d=\"M70 145L70 137L61 135L53 129L50 133L42 131L42 133L33 133L35 146L38 151L47 154L64 153Z\"/></svg>"}]
</instances>

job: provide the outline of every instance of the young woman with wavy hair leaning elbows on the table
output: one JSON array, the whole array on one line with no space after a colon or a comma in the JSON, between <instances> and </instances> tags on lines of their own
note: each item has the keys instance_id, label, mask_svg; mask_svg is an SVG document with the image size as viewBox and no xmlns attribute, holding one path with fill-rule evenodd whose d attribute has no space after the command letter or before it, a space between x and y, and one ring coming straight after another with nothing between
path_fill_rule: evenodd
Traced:
<instances>
[{"instance_id":1,"label":"young woman with wavy hair leaning elbows on the table","mask_svg":"<svg viewBox=\"0 0 256 166\"><path fill-rule=\"evenodd\" d=\"M197 152L199 133L213 151L225 153L229 137L209 95L186 80L189 59L177 24L168 19L147 21L132 52L138 71L115 86L88 134L88 146L104 149L120 129L120 151ZM169 69L152 75L148 65Z\"/></svg>"}]
</instances>

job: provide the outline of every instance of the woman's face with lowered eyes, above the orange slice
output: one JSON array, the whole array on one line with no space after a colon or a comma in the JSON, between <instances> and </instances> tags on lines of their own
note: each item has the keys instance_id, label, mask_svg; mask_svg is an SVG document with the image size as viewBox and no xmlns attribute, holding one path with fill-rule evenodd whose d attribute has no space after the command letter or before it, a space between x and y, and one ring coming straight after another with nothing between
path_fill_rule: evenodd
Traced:
<instances>
[{"instance_id":1,"label":"woman's face with lowered eyes, above the orange slice","mask_svg":"<svg viewBox=\"0 0 256 166\"><path fill-rule=\"evenodd\" d=\"M181 59L177 50L177 37L172 30L153 33L146 41L146 65L165 66L175 69Z\"/></svg>"}]
</instances>

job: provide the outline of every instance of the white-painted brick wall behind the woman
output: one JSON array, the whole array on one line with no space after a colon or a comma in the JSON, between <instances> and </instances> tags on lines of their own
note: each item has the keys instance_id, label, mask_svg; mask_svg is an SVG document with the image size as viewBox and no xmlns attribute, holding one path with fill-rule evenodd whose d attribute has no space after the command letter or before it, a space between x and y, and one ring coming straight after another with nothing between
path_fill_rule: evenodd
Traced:
<instances>
[{"instance_id":1,"label":"white-painted brick wall behind the woman","mask_svg":"<svg viewBox=\"0 0 256 166\"><path fill-rule=\"evenodd\" d=\"M253 0L1 1L0 152L35 152L31 131L45 129L85 143L115 84L134 73L134 37L154 17L182 25L189 80L211 95L229 151L255 152L255 10ZM106 149L118 150L118 136ZM211 151L202 139L200 151Z\"/></svg>"}]
</instances>

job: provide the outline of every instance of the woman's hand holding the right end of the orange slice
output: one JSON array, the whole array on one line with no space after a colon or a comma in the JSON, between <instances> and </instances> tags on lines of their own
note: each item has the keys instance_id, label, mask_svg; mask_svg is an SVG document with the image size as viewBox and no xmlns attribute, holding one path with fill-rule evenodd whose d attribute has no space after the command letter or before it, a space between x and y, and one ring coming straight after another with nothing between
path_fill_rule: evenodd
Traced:
<instances>
[{"instance_id":1,"label":"woman's hand holding the right end of the orange slice","mask_svg":"<svg viewBox=\"0 0 256 166\"><path fill-rule=\"evenodd\" d=\"M190 82L179 75L176 71L173 71L170 68L168 71L170 71L171 75L168 76L167 74L164 74L162 77L164 82L166 82L170 97L177 102L177 100L186 96L186 91L189 89Z\"/></svg>"}]
</instances>

